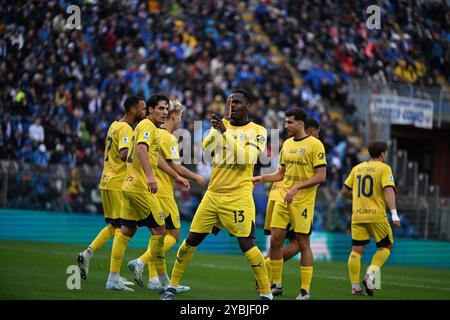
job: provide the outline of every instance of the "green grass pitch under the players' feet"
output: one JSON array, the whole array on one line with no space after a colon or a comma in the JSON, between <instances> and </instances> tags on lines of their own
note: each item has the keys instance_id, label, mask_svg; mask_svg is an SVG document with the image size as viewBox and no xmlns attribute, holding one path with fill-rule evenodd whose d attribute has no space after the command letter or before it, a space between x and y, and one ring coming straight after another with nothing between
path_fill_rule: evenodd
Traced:
<instances>
[{"instance_id":1,"label":"green grass pitch under the players' feet","mask_svg":"<svg viewBox=\"0 0 450 320\"><path fill-rule=\"evenodd\" d=\"M237 244L236 244L237 245ZM103 248L91 260L88 279L82 280L80 290L69 290L66 273L76 264L82 245L39 242L0 241L0 299L132 299L157 300L159 294L134 286L136 292L113 292L104 289L108 276L110 248ZM132 279L126 263L142 253L129 249L122 276ZM167 255L171 272L175 250ZM367 265L362 266L365 270ZM295 299L299 291L298 260L285 264L284 293L276 299ZM147 280L147 270L145 271ZM450 270L391 266L382 269L382 289L373 297L352 297L347 265L342 262L316 262L312 280L314 300L367 299L450 299ZM182 284L191 286L177 300L253 300L255 281L242 255L197 253L185 272Z\"/></svg>"}]
</instances>

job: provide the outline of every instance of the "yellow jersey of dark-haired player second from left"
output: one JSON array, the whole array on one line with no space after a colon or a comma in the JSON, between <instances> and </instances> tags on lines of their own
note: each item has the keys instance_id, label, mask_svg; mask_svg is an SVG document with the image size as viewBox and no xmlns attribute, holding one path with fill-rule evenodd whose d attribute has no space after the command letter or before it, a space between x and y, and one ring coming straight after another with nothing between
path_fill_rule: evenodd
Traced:
<instances>
[{"instance_id":1,"label":"yellow jersey of dark-haired player second from left","mask_svg":"<svg viewBox=\"0 0 450 320\"><path fill-rule=\"evenodd\" d=\"M123 180L122 190L127 192L146 193L147 177L136 153L138 144L144 143L148 148L148 160L153 174L158 170L159 132L150 119L138 123L131 138L131 147L127 154L127 174Z\"/></svg>"}]
</instances>

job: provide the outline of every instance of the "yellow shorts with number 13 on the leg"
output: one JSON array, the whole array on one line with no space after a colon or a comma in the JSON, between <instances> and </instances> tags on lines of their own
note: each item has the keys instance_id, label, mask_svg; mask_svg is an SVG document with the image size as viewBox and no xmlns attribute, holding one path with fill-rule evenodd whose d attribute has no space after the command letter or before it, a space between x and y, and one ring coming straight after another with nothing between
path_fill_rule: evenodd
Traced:
<instances>
[{"instance_id":1,"label":"yellow shorts with number 13 on the leg","mask_svg":"<svg viewBox=\"0 0 450 320\"><path fill-rule=\"evenodd\" d=\"M211 233L224 226L235 237L254 237L255 203L252 194L224 195L206 192L195 212L191 232Z\"/></svg>"}]
</instances>

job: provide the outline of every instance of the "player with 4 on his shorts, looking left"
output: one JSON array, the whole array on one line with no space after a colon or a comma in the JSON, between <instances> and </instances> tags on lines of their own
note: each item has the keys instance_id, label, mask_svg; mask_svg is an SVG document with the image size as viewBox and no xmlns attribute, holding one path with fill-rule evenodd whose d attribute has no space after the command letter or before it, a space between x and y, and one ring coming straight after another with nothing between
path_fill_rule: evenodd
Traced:
<instances>
[{"instance_id":1,"label":"player with 4 on his shorts, looking left","mask_svg":"<svg viewBox=\"0 0 450 320\"><path fill-rule=\"evenodd\" d=\"M281 294L283 253L282 245L291 226L300 248L301 287L297 300L310 298L313 274L313 254L310 235L314 218L316 191L326 179L325 148L319 139L305 132L306 113L291 109L286 113L285 128L291 138L281 149L281 167L269 175L253 178L255 184L282 181L279 190L283 201L276 200L270 223L270 267L272 293Z\"/></svg>"}]
</instances>

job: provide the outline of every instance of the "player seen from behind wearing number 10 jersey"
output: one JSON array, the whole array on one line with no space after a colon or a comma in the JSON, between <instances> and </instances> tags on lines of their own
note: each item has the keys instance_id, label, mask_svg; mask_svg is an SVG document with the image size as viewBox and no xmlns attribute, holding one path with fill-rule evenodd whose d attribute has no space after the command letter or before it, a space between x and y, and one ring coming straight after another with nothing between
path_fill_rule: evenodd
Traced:
<instances>
[{"instance_id":1,"label":"player seen from behind wearing number 10 jersey","mask_svg":"<svg viewBox=\"0 0 450 320\"><path fill-rule=\"evenodd\" d=\"M391 167L384 163L387 144L374 141L369 144L370 160L355 166L342 188L342 195L352 199L352 252L348 258L348 271L353 295L373 295L375 275L391 254L394 238L386 216L386 203L395 227L400 219L395 206L395 183ZM363 279L364 294L360 288L361 255L370 238L374 238L378 251Z\"/></svg>"}]
</instances>

